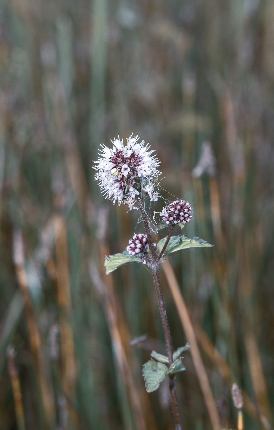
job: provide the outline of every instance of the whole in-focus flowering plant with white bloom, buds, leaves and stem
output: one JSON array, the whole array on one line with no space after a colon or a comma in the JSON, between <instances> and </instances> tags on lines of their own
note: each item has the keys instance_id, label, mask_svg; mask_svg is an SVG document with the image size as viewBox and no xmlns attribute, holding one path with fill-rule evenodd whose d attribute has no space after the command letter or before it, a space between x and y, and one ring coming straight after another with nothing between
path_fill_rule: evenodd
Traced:
<instances>
[{"instance_id":1,"label":"whole in-focus flowering plant with white bloom, buds, leaves and stem","mask_svg":"<svg viewBox=\"0 0 274 430\"><path fill-rule=\"evenodd\" d=\"M161 174L158 167L160 161L149 144L144 141L138 143L138 136L131 135L124 145L123 139L114 139L113 147L101 145L99 160L94 169L97 171L95 179L103 195L117 203L125 203L129 209L139 209L146 233L135 233L129 240L127 249L122 253L106 257L104 266L107 274L126 263L147 264L152 271L153 281L157 293L161 322L164 330L167 356L155 351L151 359L143 365L143 378L148 393L158 389L162 381L168 376L170 380L171 408L176 430L181 429L177 404L175 374L182 372L185 366L182 362L182 353L189 349L189 344L179 347L175 352L172 349L170 329L158 266L170 253L181 249L212 246L198 237L188 238L178 234L173 236L175 226L183 228L192 219L192 208L184 200L174 200L160 212L161 219L155 225L146 212L146 200L158 200L158 191L155 192L156 181ZM158 188L157 188L158 189ZM170 227L167 237L159 240L158 244L152 239L152 231Z\"/></svg>"}]
</instances>

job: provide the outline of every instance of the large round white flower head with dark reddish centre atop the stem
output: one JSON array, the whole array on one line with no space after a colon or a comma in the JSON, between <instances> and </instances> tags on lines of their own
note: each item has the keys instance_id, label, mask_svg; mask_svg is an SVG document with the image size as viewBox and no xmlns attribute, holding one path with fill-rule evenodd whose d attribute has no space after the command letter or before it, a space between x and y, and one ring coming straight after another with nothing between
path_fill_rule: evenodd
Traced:
<instances>
[{"instance_id":1,"label":"large round white flower head with dark reddish centre atop the stem","mask_svg":"<svg viewBox=\"0 0 274 430\"><path fill-rule=\"evenodd\" d=\"M149 150L149 144L143 140L138 143L138 140L138 135L131 135L124 145L118 136L112 141L112 149L101 145L100 157L93 167L97 170L95 180L99 181L103 195L113 203L117 202L118 206L121 202L126 203L130 209L140 194L140 178L153 181L161 174L158 170L160 161L153 155L154 151Z\"/></svg>"}]
</instances>

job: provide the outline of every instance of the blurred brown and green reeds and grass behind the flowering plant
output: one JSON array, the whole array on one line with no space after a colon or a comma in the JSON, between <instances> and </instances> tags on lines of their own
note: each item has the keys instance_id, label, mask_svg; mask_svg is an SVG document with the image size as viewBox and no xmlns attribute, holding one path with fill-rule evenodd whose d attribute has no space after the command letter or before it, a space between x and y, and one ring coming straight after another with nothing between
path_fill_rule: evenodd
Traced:
<instances>
[{"instance_id":1,"label":"blurred brown and green reeds and grass behind the flowering plant","mask_svg":"<svg viewBox=\"0 0 274 430\"><path fill-rule=\"evenodd\" d=\"M215 245L172 265L222 428L236 427L237 382L244 428L271 429L273 1L0 4L0 429L173 428L166 384L146 394L141 375L164 353L151 274L102 267L138 214L103 200L92 160L132 132L158 154L161 186L193 206L184 233ZM210 429L184 361L183 428Z\"/></svg>"}]
</instances>

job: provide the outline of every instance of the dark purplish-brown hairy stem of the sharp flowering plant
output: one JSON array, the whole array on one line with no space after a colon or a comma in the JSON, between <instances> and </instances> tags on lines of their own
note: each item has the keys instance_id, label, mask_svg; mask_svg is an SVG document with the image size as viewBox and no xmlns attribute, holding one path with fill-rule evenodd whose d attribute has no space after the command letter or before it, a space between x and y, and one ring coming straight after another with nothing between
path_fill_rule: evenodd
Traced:
<instances>
[{"instance_id":1,"label":"dark purplish-brown hairy stem of the sharp flowering plant","mask_svg":"<svg viewBox=\"0 0 274 430\"><path fill-rule=\"evenodd\" d=\"M157 293L158 298L158 304L159 304L159 310L161 315L161 322L164 329L164 338L165 338L165 344L167 349L167 356L168 356L168 362L169 365L173 363L173 357L172 357L172 343L171 343L171 335L170 335L170 329L167 321L167 311L165 307L164 302L164 295L163 290L161 286L161 280L159 275L159 269L158 269L158 259L155 260L155 253L154 253L154 247L153 247L153 240L151 236L151 231L149 227L149 222L146 216L146 212L142 206L141 200L139 199L139 206L140 206L140 212L143 218L143 224L146 230L146 235L148 239L149 244L149 253L150 253L150 261L152 265L152 275L153 275L153 281ZM173 230L172 228L170 231ZM172 231L171 231L172 233ZM169 239L171 237L171 233L168 235ZM165 243L165 247L167 246L168 241ZM174 419L174 426L175 430L182 430L182 426L180 423L180 416L179 416L179 409L178 409L178 402L177 402L177 393L176 393L176 383L175 383L175 377L174 375L169 375L169 388L170 388L170 399L171 399L171 408L172 408L172 415Z\"/></svg>"}]
</instances>

